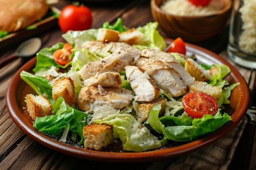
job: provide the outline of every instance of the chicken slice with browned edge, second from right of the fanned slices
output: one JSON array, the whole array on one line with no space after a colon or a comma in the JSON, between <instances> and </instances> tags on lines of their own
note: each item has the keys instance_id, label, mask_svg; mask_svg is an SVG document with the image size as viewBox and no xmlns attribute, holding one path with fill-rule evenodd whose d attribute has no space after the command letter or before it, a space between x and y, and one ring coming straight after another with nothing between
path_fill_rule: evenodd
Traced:
<instances>
[{"instance_id":1,"label":"chicken slice with browned edge, second from right of the fanned slices","mask_svg":"<svg viewBox=\"0 0 256 170\"><path fill-rule=\"evenodd\" d=\"M186 83L180 73L172 66L153 58L141 59L137 62L137 66L146 70L146 73L154 79L157 86L173 97L186 93Z\"/></svg>"}]
</instances>

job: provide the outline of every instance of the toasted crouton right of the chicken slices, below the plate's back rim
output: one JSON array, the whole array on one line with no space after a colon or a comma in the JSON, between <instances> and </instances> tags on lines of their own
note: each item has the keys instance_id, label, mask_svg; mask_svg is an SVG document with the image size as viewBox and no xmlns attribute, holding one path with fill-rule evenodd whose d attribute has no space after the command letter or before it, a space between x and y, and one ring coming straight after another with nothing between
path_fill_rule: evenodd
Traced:
<instances>
[{"instance_id":1,"label":"toasted crouton right of the chicken slices, below the plate's back rim","mask_svg":"<svg viewBox=\"0 0 256 170\"><path fill-rule=\"evenodd\" d=\"M184 68L197 81L207 82L212 77L209 70L204 69L191 58L186 59Z\"/></svg>"}]
</instances>

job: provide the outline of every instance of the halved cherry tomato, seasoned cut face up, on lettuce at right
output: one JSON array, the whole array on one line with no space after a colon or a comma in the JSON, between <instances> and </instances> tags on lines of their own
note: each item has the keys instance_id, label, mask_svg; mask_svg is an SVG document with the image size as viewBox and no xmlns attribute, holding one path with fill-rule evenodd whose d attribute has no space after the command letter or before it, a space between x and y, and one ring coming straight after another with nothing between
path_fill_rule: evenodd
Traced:
<instances>
[{"instance_id":1,"label":"halved cherry tomato, seasoned cut face up, on lettuce at right","mask_svg":"<svg viewBox=\"0 0 256 170\"><path fill-rule=\"evenodd\" d=\"M218 102L211 95L199 91L184 95L182 105L193 119L202 118L205 114L215 115L219 109Z\"/></svg>"}]
</instances>

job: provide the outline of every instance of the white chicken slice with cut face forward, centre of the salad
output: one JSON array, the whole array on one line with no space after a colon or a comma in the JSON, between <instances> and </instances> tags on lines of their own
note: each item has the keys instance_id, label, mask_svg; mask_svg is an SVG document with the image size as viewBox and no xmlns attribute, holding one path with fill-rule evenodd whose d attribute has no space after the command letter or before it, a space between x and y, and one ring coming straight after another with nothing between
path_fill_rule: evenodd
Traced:
<instances>
[{"instance_id":1,"label":"white chicken slice with cut face forward, centre of the salad","mask_svg":"<svg viewBox=\"0 0 256 170\"><path fill-rule=\"evenodd\" d=\"M127 81L136 97L135 102L151 102L159 95L160 89L145 71L137 66L125 66Z\"/></svg>"}]
</instances>

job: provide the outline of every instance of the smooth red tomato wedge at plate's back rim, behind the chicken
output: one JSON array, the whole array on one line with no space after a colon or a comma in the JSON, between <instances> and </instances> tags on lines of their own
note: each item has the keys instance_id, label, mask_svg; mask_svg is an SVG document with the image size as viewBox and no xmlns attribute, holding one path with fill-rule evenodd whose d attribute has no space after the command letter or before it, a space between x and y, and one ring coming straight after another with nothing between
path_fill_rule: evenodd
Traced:
<instances>
[{"instance_id":1,"label":"smooth red tomato wedge at plate's back rim, behind the chicken","mask_svg":"<svg viewBox=\"0 0 256 170\"><path fill-rule=\"evenodd\" d=\"M186 46L184 41L179 37L176 40L174 40L166 49L167 53L181 53L186 55Z\"/></svg>"}]
</instances>

